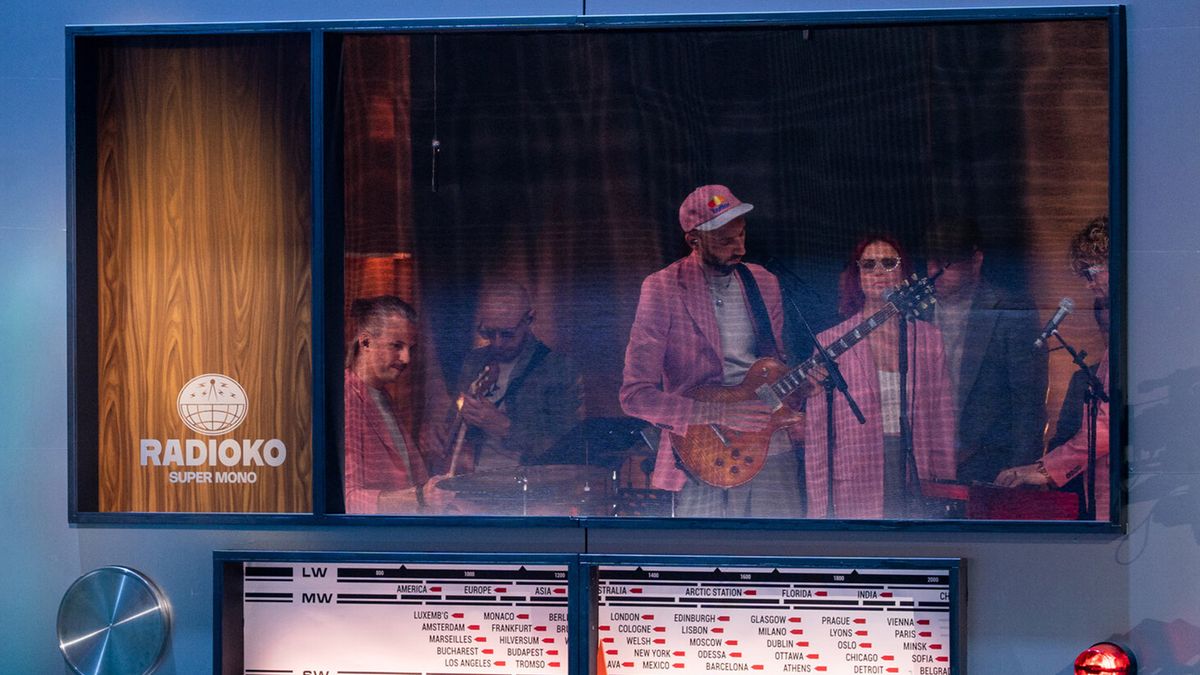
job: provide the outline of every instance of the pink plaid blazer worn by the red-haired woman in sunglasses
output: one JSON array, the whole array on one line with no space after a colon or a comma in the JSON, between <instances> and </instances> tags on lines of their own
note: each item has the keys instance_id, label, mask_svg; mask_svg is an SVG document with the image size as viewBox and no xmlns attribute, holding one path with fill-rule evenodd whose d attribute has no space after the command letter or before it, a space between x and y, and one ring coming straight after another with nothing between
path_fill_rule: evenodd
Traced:
<instances>
[{"instance_id":1,"label":"pink plaid blazer worn by the red-haired woman in sunglasses","mask_svg":"<svg viewBox=\"0 0 1200 675\"><path fill-rule=\"evenodd\" d=\"M866 318L863 312L817 335L822 345L841 338ZM908 339L916 341L916 358L910 351L908 396L912 405L913 452L922 479L954 479L955 414L941 331L930 323L908 324ZM912 346L910 346L912 350ZM838 518L883 516L883 423L880 378L871 347L864 340L838 358L850 393L866 417L858 424L841 394L834 395L834 506ZM809 518L827 512L826 399L823 393L809 399L805 420L805 468Z\"/></svg>"}]
</instances>

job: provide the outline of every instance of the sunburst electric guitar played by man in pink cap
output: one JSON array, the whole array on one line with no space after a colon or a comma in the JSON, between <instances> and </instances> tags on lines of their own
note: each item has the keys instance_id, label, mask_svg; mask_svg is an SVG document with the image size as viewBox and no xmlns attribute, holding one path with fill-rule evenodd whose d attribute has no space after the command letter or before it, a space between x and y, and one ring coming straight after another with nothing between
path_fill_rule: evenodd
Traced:
<instances>
[{"instance_id":1,"label":"sunburst electric guitar played by man in pink cap","mask_svg":"<svg viewBox=\"0 0 1200 675\"><path fill-rule=\"evenodd\" d=\"M845 335L826 345L836 359L896 315L917 317L936 301L929 279L912 275L888 293L888 304ZM770 437L776 430L804 419L803 413L785 405L788 396L808 382L809 372L821 364L814 356L796 368L770 357L758 359L739 384L703 384L686 396L697 401L737 402L760 400L774 411L760 431L737 431L718 424L691 424L685 435L671 434L671 447L692 476L716 488L736 488L749 483L767 459Z\"/></svg>"}]
</instances>

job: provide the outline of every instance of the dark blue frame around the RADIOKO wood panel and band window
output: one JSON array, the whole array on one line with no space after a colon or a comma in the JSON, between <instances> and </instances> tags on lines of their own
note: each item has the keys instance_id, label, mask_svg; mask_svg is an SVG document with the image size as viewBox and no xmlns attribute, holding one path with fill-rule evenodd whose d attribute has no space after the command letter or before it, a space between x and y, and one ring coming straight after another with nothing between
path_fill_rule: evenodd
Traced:
<instances>
[{"instance_id":1,"label":"dark blue frame around the RADIOKO wood panel and band window","mask_svg":"<svg viewBox=\"0 0 1200 675\"><path fill-rule=\"evenodd\" d=\"M329 508L337 501L326 489L336 470L332 452L341 430L338 419L342 381L343 259L341 141L326 126L338 104L329 96L337 64L330 58L343 35L371 32L463 31L589 31L684 28L803 28L911 25L922 23L1103 19L1109 29L1109 214L1111 222L1111 315L1117 327L1110 334L1111 418L1110 482L1112 495L1104 521L1008 520L809 520L809 519L696 519L612 516L457 516L457 515L344 515ZM312 160L312 513L109 513L98 510L97 477L97 354L96 354L96 138L94 113L96 82L82 77L95 61L96 46L106 40L144 36L204 36L235 34L307 34L311 49L311 160ZM445 525L503 527L642 527L642 528L758 528L812 531L966 531L1063 532L1118 534L1126 524L1123 477L1127 474L1127 82L1126 17L1122 5L967 10L895 10L864 12L727 13L660 16L565 16L499 19L278 22L230 24L103 25L66 28L66 157L67 157L67 368L68 400L68 521L100 526L199 527L325 525ZM336 479L335 479L336 484ZM1103 508L1103 506L1098 506Z\"/></svg>"}]
</instances>

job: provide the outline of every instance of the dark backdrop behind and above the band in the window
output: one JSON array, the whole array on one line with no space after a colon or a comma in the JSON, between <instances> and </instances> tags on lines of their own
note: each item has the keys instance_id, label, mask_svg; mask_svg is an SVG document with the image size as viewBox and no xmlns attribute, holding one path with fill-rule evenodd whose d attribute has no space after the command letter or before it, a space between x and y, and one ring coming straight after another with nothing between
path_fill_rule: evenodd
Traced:
<instances>
[{"instance_id":1,"label":"dark backdrop behind and above the band in the window","mask_svg":"<svg viewBox=\"0 0 1200 675\"><path fill-rule=\"evenodd\" d=\"M1039 228L1072 227L1031 215L1028 174L1044 165L1030 88L1060 53L1104 47L1103 23L1079 23L1061 24L1068 41L1052 23L347 38L346 96L359 78L374 100L358 131L347 103L347 249L376 246L352 246L353 216L355 237L389 229L409 256L397 274L410 274L431 381L454 382L474 345L484 281L524 282L534 331L583 371L589 416L620 414L640 283L686 253L677 210L706 183L756 205L751 255L798 275L788 295L815 330L836 318L836 275L863 233L919 255L941 216L978 220L989 275L1028 293ZM1074 76L1094 90L1094 67ZM360 143L391 156L352 161ZM1068 145L1068 163L1091 150Z\"/></svg>"}]
</instances>

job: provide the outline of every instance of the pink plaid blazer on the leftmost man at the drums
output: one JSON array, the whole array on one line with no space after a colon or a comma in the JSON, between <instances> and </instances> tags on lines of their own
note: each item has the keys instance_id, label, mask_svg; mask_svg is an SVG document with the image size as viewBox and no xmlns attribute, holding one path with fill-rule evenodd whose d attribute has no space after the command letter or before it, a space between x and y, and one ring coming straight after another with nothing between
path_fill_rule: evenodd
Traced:
<instances>
[{"instance_id":1,"label":"pink plaid blazer on the leftmost man at the drums","mask_svg":"<svg viewBox=\"0 0 1200 675\"><path fill-rule=\"evenodd\" d=\"M346 513L377 513L379 492L413 486L400 450L388 432L371 392L353 371L346 371ZM398 418L397 418L398 420ZM400 426L418 485L428 480L425 460L408 431Z\"/></svg>"}]
</instances>

